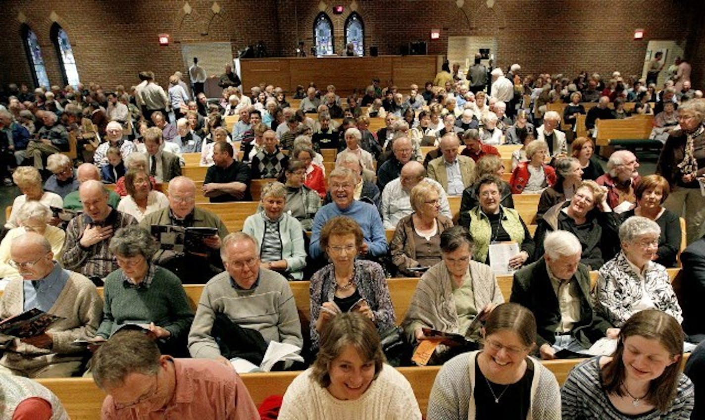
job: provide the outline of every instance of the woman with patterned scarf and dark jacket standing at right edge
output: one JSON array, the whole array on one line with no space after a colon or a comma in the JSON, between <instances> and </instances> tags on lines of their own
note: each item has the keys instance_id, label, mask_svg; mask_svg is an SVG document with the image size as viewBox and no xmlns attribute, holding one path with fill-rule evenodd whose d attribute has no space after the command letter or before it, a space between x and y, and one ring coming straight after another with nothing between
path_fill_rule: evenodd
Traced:
<instances>
[{"instance_id":1,"label":"woman with patterned scarf and dark jacket standing at right edge","mask_svg":"<svg viewBox=\"0 0 705 420\"><path fill-rule=\"evenodd\" d=\"M656 173L670 184L663 206L685 217L687 242L702 237L705 197L699 179L705 175L705 99L692 99L678 109L680 130L671 132L656 163Z\"/></svg>"}]
</instances>

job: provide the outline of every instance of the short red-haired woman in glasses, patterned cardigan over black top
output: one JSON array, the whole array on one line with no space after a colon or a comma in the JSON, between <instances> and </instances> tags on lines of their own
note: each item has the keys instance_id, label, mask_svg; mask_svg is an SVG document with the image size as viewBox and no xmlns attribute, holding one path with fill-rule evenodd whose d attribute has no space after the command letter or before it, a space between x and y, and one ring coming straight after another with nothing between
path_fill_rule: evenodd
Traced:
<instances>
[{"instance_id":1,"label":"short red-haired woman in glasses, patterned cardigan over black top","mask_svg":"<svg viewBox=\"0 0 705 420\"><path fill-rule=\"evenodd\" d=\"M321 249L331 261L311 278L311 342L319 347L326 322L343 312L358 312L378 331L396 323L382 266L357 259L363 247L362 229L346 216L331 218L321 229Z\"/></svg>"}]
</instances>

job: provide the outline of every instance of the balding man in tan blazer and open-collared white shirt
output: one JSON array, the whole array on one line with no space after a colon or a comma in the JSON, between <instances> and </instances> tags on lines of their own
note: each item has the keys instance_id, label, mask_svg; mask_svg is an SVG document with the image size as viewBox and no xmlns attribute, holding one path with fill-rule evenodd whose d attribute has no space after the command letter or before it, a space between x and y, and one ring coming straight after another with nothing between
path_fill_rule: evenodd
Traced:
<instances>
[{"instance_id":1,"label":"balding man in tan blazer and open-collared white shirt","mask_svg":"<svg viewBox=\"0 0 705 420\"><path fill-rule=\"evenodd\" d=\"M468 156L459 156L460 140L454 132L441 137L441 154L429 162L429 178L438 181L446 194L461 196L474 182L475 162Z\"/></svg>"}]
</instances>

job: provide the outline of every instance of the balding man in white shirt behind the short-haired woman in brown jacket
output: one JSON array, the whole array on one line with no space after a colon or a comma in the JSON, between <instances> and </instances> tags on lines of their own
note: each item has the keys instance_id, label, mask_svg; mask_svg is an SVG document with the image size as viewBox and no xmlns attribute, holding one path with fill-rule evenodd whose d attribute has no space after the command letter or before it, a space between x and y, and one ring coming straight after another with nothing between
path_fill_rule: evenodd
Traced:
<instances>
[{"instance_id":1,"label":"balding man in white shirt behind the short-haired woman in brown jacket","mask_svg":"<svg viewBox=\"0 0 705 420\"><path fill-rule=\"evenodd\" d=\"M453 217L452 214L450 214L448 197L446 193L443 192L441 184L426 177L426 168L424 168L422 163L410 161L401 168L399 178L388 183L382 192L382 221L384 222L385 229L396 228L397 223L399 223L404 216L409 216L414 212L411 208L409 194L411 189L424 179L436 185L441 191L441 194L439 194L441 214L448 218Z\"/></svg>"}]
</instances>

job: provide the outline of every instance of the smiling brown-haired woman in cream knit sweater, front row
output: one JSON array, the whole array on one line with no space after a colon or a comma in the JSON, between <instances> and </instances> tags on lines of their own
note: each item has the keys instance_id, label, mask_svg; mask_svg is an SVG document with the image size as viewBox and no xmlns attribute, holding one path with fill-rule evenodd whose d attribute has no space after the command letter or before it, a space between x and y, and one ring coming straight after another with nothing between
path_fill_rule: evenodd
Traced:
<instances>
[{"instance_id":1,"label":"smiling brown-haired woman in cream knit sweater, front row","mask_svg":"<svg viewBox=\"0 0 705 420\"><path fill-rule=\"evenodd\" d=\"M360 314L340 314L321 331L313 366L284 394L280 420L421 419L414 391L384 363L379 335Z\"/></svg>"}]
</instances>

